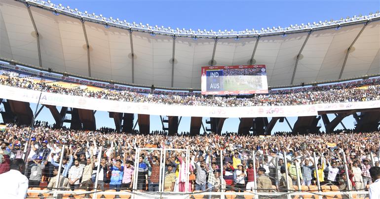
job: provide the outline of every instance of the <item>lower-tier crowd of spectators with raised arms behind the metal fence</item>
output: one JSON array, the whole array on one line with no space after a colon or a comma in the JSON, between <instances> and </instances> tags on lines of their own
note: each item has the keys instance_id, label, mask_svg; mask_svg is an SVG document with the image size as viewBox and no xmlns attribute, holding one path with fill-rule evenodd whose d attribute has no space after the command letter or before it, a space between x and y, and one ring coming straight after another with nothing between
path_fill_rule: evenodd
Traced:
<instances>
[{"instance_id":1,"label":"lower-tier crowd of spectators with raised arms behind the metal fence","mask_svg":"<svg viewBox=\"0 0 380 199\"><path fill-rule=\"evenodd\" d=\"M53 176L59 174L58 162L63 158L59 188L88 191L94 189L98 167L99 189L132 189L137 178L138 190L159 191L160 165L165 166L162 186L168 192L286 192L297 189L298 182L315 186L317 176L322 185L334 185L342 191L363 191L372 182L369 172L372 164L379 166L380 158L378 131L265 137L166 136L44 126L31 130L7 124L0 132L0 144L0 173L9 170L10 160L25 158L29 187L52 189L57 185L57 178ZM136 157L139 151L136 149L143 149L139 157ZM157 149L174 151L160 154ZM179 149L188 149L189 157ZM349 181L345 176L345 162ZM189 187L185 187L186 176L189 176Z\"/></svg>"}]
</instances>

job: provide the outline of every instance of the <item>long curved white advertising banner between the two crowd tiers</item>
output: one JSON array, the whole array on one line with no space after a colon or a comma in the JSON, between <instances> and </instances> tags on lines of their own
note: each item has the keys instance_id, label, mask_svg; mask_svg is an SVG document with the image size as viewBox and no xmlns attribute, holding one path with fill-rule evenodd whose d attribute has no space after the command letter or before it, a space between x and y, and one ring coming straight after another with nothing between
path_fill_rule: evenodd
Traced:
<instances>
[{"instance_id":1,"label":"long curved white advertising banner between the two crowd tiers","mask_svg":"<svg viewBox=\"0 0 380 199\"><path fill-rule=\"evenodd\" d=\"M0 98L37 103L40 91L0 85ZM119 113L217 118L316 116L318 111L380 108L380 101L295 106L209 107L123 102L42 92L41 104Z\"/></svg>"}]
</instances>

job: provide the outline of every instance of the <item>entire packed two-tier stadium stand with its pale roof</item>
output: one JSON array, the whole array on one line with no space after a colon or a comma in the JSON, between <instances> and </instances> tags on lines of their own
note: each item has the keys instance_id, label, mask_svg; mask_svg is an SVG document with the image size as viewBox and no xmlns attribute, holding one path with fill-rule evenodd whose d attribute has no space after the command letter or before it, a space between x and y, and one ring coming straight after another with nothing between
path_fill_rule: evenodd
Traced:
<instances>
[{"instance_id":1,"label":"entire packed two-tier stadium stand with its pale roof","mask_svg":"<svg viewBox=\"0 0 380 199\"><path fill-rule=\"evenodd\" d=\"M1 1L0 16L0 174L23 159L27 198L369 198L379 12L237 32L152 27L50 0ZM206 66L265 74L267 93L202 95ZM43 108L55 123L37 120ZM114 128L97 126L96 111ZM162 129L150 129L151 115ZM228 118L240 119L235 132L222 132ZM284 121L292 131L273 132Z\"/></svg>"}]
</instances>

